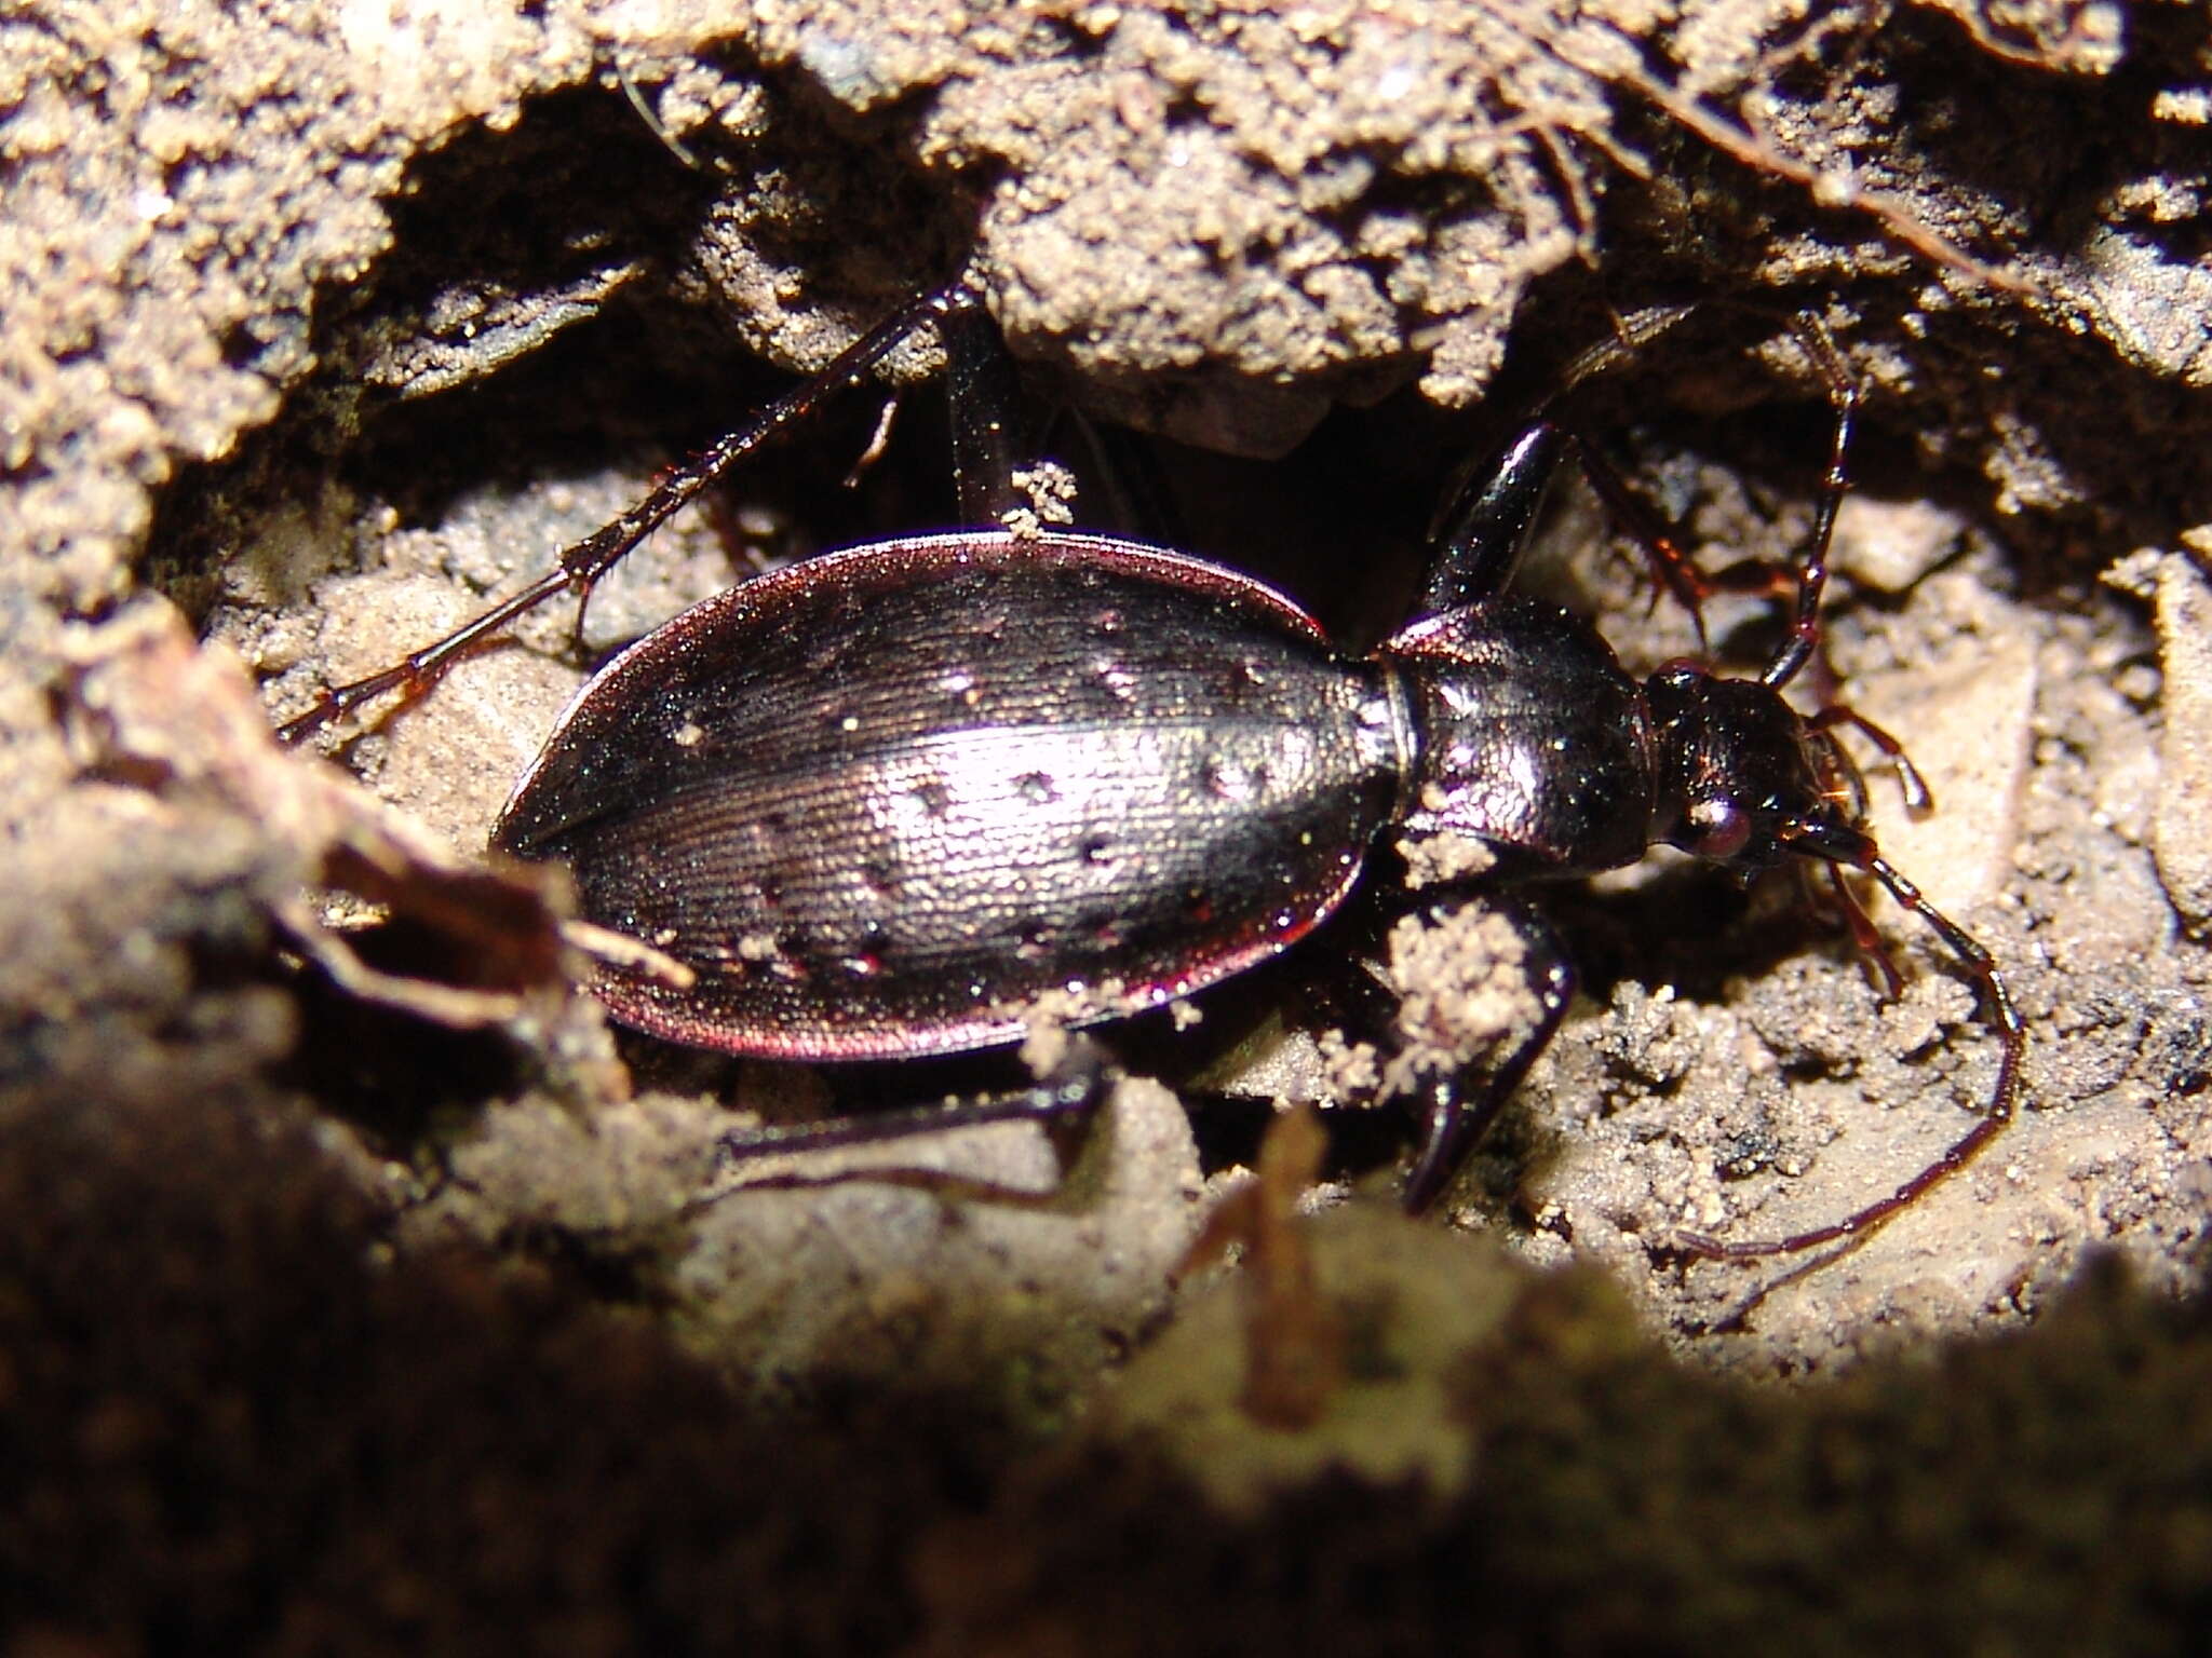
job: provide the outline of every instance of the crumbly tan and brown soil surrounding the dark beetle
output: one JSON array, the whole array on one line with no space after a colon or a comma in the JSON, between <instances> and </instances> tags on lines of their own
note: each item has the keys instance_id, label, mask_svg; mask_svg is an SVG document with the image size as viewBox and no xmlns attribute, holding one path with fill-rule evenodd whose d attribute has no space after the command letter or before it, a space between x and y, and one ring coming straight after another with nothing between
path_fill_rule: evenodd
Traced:
<instances>
[{"instance_id":1,"label":"crumbly tan and brown soil surrounding the dark beetle","mask_svg":"<svg viewBox=\"0 0 2212 1658\"><path fill-rule=\"evenodd\" d=\"M9 1645L2183 1645L2208 122L2203 18L2104 0L0 22ZM1314 1218L1250 1220L1252 1112L1201 1092L1389 1121L1296 1039L1208 1090L1144 1041L1084 1134L728 1167L741 1112L936 1072L613 1032L557 873L480 849L595 654L942 522L927 340L854 486L876 389L336 765L268 721L962 267L1042 402L1137 433L1179 544L1347 641L1568 382L1705 568L1792 559L1816 316L1865 400L1805 701L1927 776L1909 814L1860 749L1885 856L2026 1019L2017 1121L1847 1247L1670 1249L1893 1189L1997 1043L1887 898L1893 1001L1818 893L1655 858L1540 895L1582 997L1422 1222L1349 1152ZM1586 493L1553 520L1533 586L1639 670L1699 650ZM1754 672L1772 610L1717 601L1719 657ZM1310 1026L1270 984L1188 1048ZM1186 1271L1208 1216L1241 1276ZM1272 1346L1321 1406L1254 1430Z\"/></svg>"}]
</instances>

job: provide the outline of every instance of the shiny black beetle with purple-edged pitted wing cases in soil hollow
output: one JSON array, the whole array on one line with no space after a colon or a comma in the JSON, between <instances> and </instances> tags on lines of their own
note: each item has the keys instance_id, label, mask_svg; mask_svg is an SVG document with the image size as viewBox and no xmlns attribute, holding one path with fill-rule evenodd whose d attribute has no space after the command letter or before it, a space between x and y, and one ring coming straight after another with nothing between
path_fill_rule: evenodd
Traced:
<instances>
[{"instance_id":1,"label":"shiny black beetle with purple-edged pitted wing cases in soil hollow","mask_svg":"<svg viewBox=\"0 0 2212 1658\"><path fill-rule=\"evenodd\" d=\"M655 524L925 327L951 363L962 517L991 528L827 553L686 610L575 694L500 814L498 851L564 862L582 913L646 946L597 964L593 990L617 1021L796 1061L1011 1046L1071 993L1073 1024L1102 1024L1279 955L1349 900L1385 833L1478 844L1486 869L1473 891L1489 895L1672 844L1743 880L1792 860L1827 867L1893 993L1896 968L1840 871L1871 875L1951 951L2000 1041L1984 1112L1889 1196L1790 1238L1683 1236L1683 1249L1756 1256L1865 1234L2011 1121L2026 1035L2004 979L1880 856L1838 730L1865 732L1924 798L1918 776L1854 710L1805 716L1783 699L1818 641L1856 409L1818 332L1807 347L1834 389L1829 466L1809 546L1783 575L1790 628L1752 679L1674 661L1637 681L1590 623L1513 592L1568 458L1632 520L1666 586L1692 608L1712 590L1542 411L1442 515L1411 619L1365 657L1336 650L1265 584L1192 555L1002 528L1004 356L978 349L995 334L978 290L956 281L900 307L524 592L325 692L283 736L425 688L555 592L588 597ZM1447 893L1438 913L1458 902L1480 900ZM1482 1085L1425 1079L1409 1209L1442 1192L1566 1012L1573 968L1531 926L1537 1017ZM1093 1094L1095 1077L1046 1077L967 1114L1073 1110ZM876 1132L889 1127L838 1136Z\"/></svg>"}]
</instances>

